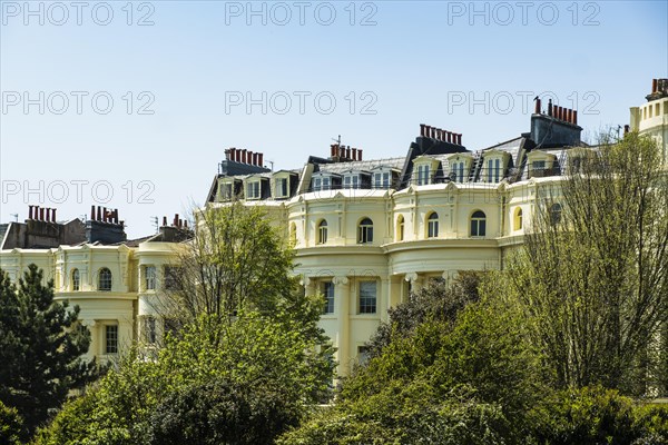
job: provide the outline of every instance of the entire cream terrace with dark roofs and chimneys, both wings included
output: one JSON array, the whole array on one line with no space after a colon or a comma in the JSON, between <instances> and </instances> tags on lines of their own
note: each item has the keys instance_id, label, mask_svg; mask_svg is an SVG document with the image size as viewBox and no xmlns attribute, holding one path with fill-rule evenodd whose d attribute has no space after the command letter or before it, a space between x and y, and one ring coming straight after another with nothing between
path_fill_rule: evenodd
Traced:
<instances>
[{"instance_id":1,"label":"entire cream terrace with dark roofs and chimneys, both wings included","mask_svg":"<svg viewBox=\"0 0 668 445\"><path fill-rule=\"evenodd\" d=\"M631 108L627 130L655 137L666 154L668 79L655 80L647 100ZM580 140L576 110L538 99L529 123L477 151L461 134L421 125L404 156L365 160L363 150L337 144L328 156L279 171L265 168L262 154L230 148L206 206L262 206L284 229L306 291L323 295L321 325L346 374L411 290L459 270L503 268L537 206L560 218L561 178L591 148ZM131 340L157 344L169 329L159 284L189 236L178 216L157 235L128 241L117 211L94 208L86 222L55 222L38 210L26 224L0 226L0 267L13 277L30 263L48 270L57 297L79 304L91 327L89 355L108 357Z\"/></svg>"}]
</instances>

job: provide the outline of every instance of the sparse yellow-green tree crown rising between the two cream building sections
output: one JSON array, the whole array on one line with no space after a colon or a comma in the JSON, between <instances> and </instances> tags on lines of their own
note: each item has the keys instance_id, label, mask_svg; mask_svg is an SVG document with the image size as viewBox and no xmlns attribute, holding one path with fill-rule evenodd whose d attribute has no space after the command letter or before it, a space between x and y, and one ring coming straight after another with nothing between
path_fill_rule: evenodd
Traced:
<instances>
[{"instance_id":1,"label":"sparse yellow-green tree crown rising between the two cream building sections","mask_svg":"<svg viewBox=\"0 0 668 445\"><path fill-rule=\"evenodd\" d=\"M242 308L271 314L295 294L294 251L263 209L234 202L196 216L196 236L167 277L174 316L229 319Z\"/></svg>"}]
</instances>

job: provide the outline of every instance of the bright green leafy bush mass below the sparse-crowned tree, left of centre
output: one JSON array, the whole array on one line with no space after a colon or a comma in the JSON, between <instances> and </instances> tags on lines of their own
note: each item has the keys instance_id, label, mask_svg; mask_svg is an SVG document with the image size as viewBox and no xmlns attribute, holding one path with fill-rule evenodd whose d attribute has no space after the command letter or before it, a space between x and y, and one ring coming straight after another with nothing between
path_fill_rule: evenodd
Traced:
<instances>
[{"instance_id":1,"label":"bright green leafy bush mass below the sparse-crowned tree, left of centre","mask_svg":"<svg viewBox=\"0 0 668 445\"><path fill-rule=\"evenodd\" d=\"M66 405L40 444L273 441L333 378L334 364L315 354L316 339L304 332L295 320L258 313L239 313L234 323L202 315L167 342L157 362L129 356Z\"/></svg>"}]
</instances>

